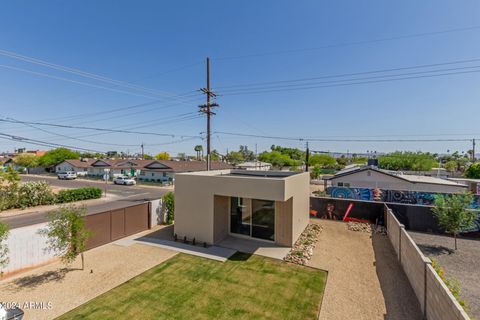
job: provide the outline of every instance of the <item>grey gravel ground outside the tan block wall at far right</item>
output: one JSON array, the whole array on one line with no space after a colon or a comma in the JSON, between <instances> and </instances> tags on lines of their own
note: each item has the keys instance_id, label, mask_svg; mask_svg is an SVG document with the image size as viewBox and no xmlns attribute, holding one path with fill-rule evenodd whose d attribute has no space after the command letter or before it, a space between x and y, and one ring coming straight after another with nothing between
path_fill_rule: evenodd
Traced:
<instances>
[{"instance_id":1,"label":"grey gravel ground outside the tan block wall at far right","mask_svg":"<svg viewBox=\"0 0 480 320\"><path fill-rule=\"evenodd\" d=\"M460 281L461 298L466 301L468 314L480 319L480 240L458 239L458 250L452 237L408 232L423 254L434 258L445 269L446 276Z\"/></svg>"}]
</instances>

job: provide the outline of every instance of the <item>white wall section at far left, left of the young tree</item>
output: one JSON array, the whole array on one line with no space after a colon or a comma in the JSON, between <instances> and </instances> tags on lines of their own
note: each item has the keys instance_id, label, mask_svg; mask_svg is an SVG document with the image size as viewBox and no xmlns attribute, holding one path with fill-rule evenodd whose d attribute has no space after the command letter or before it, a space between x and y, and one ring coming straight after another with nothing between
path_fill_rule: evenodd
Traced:
<instances>
[{"instance_id":1,"label":"white wall section at far left, left of the young tree","mask_svg":"<svg viewBox=\"0 0 480 320\"><path fill-rule=\"evenodd\" d=\"M47 238L38 234L46 223L10 230L7 238L10 262L4 273L33 267L54 259L52 252L46 252Z\"/></svg>"}]
</instances>

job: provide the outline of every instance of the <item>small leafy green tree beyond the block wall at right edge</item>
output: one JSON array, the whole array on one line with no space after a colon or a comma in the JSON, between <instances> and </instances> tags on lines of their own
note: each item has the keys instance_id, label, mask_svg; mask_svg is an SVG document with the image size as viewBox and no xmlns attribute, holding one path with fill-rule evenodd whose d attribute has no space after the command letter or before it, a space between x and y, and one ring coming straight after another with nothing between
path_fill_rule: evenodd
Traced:
<instances>
[{"instance_id":1,"label":"small leafy green tree beyond the block wall at right edge","mask_svg":"<svg viewBox=\"0 0 480 320\"><path fill-rule=\"evenodd\" d=\"M473 196L466 192L446 196L439 195L435 199L433 215L445 232L453 234L455 250L457 250L457 235L473 227L478 216L475 211L468 209L472 201Z\"/></svg>"}]
</instances>

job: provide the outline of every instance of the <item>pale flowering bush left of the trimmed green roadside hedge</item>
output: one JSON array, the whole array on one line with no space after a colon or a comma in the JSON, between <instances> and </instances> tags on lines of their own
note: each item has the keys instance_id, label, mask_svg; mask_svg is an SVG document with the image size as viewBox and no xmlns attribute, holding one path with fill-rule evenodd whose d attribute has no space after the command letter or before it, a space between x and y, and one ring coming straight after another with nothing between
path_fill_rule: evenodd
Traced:
<instances>
[{"instance_id":1,"label":"pale flowering bush left of the trimmed green roadside hedge","mask_svg":"<svg viewBox=\"0 0 480 320\"><path fill-rule=\"evenodd\" d=\"M16 207L22 209L48 205L55 202L55 195L46 181L28 181L18 188Z\"/></svg>"}]
</instances>

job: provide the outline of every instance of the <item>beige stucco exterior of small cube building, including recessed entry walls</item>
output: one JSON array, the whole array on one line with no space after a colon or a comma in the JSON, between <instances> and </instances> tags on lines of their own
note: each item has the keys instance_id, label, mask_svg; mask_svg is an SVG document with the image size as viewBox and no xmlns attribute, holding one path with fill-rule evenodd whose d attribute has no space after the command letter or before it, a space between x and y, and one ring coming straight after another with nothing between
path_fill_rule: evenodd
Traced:
<instances>
[{"instance_id":1,"label":"beige stucco exterior of small cube building, including recessed entry walls","mask_svg":"<svg viewBox=\"0 0 480 320\"><path fill-rule=\"evenodd\" d=\"M275 243L291 246L308 224L309 176L277 174L242 174L237 170L177 174L175 233L218 243L229 235L231 197L271 200L275 201Z\"/></svg>"}]
</instances>

